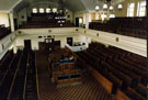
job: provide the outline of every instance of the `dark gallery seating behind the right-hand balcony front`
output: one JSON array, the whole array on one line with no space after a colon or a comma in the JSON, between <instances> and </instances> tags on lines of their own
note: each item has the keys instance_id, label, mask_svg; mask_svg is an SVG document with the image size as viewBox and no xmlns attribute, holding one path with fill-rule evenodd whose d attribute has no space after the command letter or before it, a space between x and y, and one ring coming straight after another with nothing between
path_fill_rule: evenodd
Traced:
<instances>
[{"instance_id":1,"label":"dark gallery seating behind the right-hand balcony front","mask_svg":"<svg viewBox=\"0 0 148 100\"><path fill-rule=\"evenodd\" d=\"M113 32L116 34L147 38L147 18L114 18L105 23L91 22L89 27L92 30Z\"/></svg>"}]
</instances>

